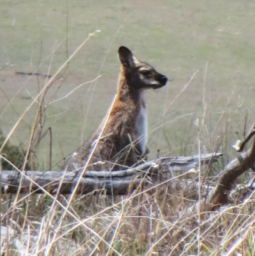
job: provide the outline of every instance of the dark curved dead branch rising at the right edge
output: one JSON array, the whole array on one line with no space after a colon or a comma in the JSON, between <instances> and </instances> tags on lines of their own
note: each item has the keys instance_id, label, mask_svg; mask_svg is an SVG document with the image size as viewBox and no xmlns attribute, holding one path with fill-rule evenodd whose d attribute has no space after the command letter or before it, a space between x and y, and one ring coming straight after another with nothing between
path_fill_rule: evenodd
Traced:
<instances>
[{"instance_id":1,"label":"dark curved dead branch rising at the right edge","mask_svg":"<svg viewBox=\"0 0 255 256\"><path fill-rule=\"evenodd\" d=\"M236 146L238 152L243 151L245 145L251 137L255 134L255 130L252 130L247 137L240 142L240 145ZM251 149L247 152L240 154L232 160L224 170L222 170L217 185L208 197L208 202L205 203L205 209L208 211L215 211L224 204L229 202L229 193L232 190L237 178L244 174L245 171L254 167L255 165L255 139L253 141Z\"/></svg>"}]
</instances>

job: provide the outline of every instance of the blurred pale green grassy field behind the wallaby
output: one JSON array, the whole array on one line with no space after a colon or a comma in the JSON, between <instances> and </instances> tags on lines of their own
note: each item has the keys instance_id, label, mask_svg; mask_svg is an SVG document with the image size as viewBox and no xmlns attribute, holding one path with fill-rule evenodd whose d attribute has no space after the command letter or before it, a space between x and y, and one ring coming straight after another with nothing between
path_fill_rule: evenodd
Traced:
<instances>
[{"instance_id":1,"label":"blurred pale green grassy field behind the wallaby","mask_svg":"<svg viewBox=\"0 0 255 256\"><path fill-rule=\"evenodd\" d=\"M45 84L15 71L54 74L99 29L47 93L46 104L102 75L47 108L43 130L52 127L54 163L80 146L105 115L116 91L120 45L173 79L147 92L151 158L157 149L161 155L197 153L197 117L203 120L203 151L212 151L219 136L219 150L233 154L230 146L238 139L235 132L244 133L245 112L248 127L254 120L254 6L218 0L1 1L0 127L8 134ZM36 107L13 143L28 144ZM48 167L48 149L45 136L41 169Z\"/></svg>"}]
</instances>

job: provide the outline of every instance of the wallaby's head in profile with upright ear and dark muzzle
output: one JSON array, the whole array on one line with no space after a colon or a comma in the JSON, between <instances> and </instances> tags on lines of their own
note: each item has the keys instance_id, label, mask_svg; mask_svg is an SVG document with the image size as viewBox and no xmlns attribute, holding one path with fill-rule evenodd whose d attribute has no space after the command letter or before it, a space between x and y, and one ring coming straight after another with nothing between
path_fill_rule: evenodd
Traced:
<instances>
[{"instance_id":1,"label":"wallaby's head in profile with upright ear and dark muzzle","mask_svg":"<svg viewBox=\"0 0 255 256\"><path fill-rule=\"evenodd\" d=\"M167 77L149 64L138 61L127 47L119 47L119 59L127 84L133 89L157 89L166 85Z\"/></svg>"}]
</instances>

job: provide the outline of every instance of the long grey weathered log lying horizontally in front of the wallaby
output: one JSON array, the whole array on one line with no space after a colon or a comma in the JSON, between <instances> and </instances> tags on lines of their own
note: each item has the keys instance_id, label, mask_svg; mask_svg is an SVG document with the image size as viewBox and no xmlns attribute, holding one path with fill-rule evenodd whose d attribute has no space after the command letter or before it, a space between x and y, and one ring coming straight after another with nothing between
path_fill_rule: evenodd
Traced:
<instances>
[{"instance_id":1,"label":"long grey weathered log lying horizontally in front of the wallaby","mask_svg":"<svg viewBox=\"0 0 255 256\"><path fill-rule=\"evenodd\" d=\"M202 154L203 164L217 162L221 153ZM85 177L78 184L77 193L85 194L96 190L104 190L110 195L125 195L137 189L140 186L146 186L151 183L151 177L159 173L187 172L190 169L198 167L198 155L180 156L170 158L159 158L147 163L143 163L136 168L109 172L89 171L85 172ZM75 172L59 172L32 170L26 172L2 171L2 192L17 193L18 186L21 186L20 192L43 193L47 190L49 193L69 194L78 183L82 170ZM20 183L22 179L22 182ZM167 179L167 178L166 178ZM32 182L32 184L31 184ZM20 185L21 184L21 185ZM61 184L61 188L59 186Z\"/></svg>"}]
</instances>

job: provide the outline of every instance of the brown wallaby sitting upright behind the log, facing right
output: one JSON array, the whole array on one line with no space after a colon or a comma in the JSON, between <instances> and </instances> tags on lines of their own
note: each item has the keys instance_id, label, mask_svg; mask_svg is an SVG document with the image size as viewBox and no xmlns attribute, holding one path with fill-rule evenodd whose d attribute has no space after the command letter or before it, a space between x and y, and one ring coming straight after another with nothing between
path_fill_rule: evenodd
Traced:
<instances>
[{"instance_id":1,"label":"brown wallaby sitting upright behind the log, facing right","mask_svg":"<svg viewBox=\"0 0 255 256\"><path fill-rule=\"evenodd\" d=\"M136 165L147 155L143 91L163 87L168 79L149 64L138 61L124 46L119 48L119 59L117 96L111 111L108 111L91 139L73 153L66 165L67 170L84 168L94 146L96 148L87 165L89 170L121 170Z\"/></svg>"}]
</instances>

